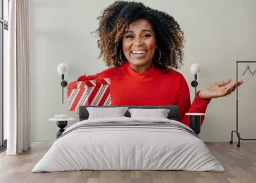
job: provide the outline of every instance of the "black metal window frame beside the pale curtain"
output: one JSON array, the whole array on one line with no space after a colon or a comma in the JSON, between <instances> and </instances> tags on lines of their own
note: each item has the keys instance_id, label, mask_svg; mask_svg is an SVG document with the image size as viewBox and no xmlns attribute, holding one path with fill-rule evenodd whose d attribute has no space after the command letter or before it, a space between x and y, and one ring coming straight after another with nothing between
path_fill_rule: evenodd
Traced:
<instances>
[{"instance_id":1,"label":"black metal window frame beside the pale curtain","mask_svg":"<svg viewBox=\"0 0 256 183\"><path fill-rule=\"evenodd\" d=\"M8 0L9 1L9 0ZM9 1L10 2L10 1ZM9 3L8 2L8 3ZM4 20L4 2L3 0L0 0L1 3L1 13L0 13L0 75L1 75L1 81L0 81L0 130L1 130L1 138L0 138L0 149L1 151L6 148L6 140L4 140L4 123L3 123L3 59L4 59L4 53L3 53L3 39L4 39L4 29L8 30L8 21ZM9 4L8 4L9 8Z\"/></svg>"}]
</instances>

